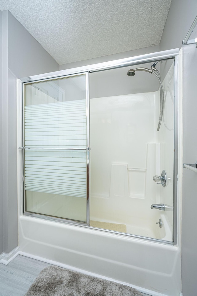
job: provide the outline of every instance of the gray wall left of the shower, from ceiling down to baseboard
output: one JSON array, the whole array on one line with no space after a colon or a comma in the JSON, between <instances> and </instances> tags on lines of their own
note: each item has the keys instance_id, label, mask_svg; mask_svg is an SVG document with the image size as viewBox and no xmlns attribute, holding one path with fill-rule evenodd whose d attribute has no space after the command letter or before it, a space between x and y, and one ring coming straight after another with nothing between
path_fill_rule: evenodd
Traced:
<instances>
[{"instance_id":1,"label":"gray wall left of the shower, from ceiling down to baseboard","mask_svg":"<svg viewBox=\"0 0 197 296\"><path fill-rule=\"evenodd\" d=\"M2 18L3 251L9 253L18 245L16 78L57 71L59 65L9 11Z\"/></svg>"}]
</instances>

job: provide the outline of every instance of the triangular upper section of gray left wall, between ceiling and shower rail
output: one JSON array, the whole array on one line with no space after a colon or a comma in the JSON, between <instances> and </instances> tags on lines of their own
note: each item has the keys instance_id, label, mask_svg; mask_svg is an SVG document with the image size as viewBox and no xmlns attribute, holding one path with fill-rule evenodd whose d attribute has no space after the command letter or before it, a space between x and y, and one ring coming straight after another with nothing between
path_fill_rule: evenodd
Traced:
<instances>
[{"instance_id":1,"label":"triangular upper section of gray left wall, between ceiling and shower rail","mask_svg":"<svg viewBox=\"0 0 197 296\"><path fill-rule=\"evenodd\" d=\"M59 70L59 64L10 13L8 17L8 68L18 78Z\"/></svg>"}]
</instances>

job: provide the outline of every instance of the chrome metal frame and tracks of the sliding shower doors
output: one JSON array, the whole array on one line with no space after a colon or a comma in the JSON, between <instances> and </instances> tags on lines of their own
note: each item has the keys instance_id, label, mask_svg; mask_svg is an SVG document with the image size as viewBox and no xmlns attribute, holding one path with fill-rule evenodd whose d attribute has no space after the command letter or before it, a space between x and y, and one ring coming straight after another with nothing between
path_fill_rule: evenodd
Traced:
<instances>
[{"instance_id":1,"label":"chrome metal frame and tracks of the sliding shower doors","mask_svg":"<svg viewBox=\"0 0 197 296\"><path fill-rule=\"evenodd\" d=\"M50 73L45 73L45 74L40 74L40 75L34 75L34 76L29 76L29 77L24 77L21 78L21 82L23 84L23 88L24 88L24 84L28 84L28 83L33 83L33 82L41 82L41 81L48 81L48 80L53 80L53 79L57 79L57 78L63 78L63 77L68 77L68 76L74 76L74 75L80 75L82 73L86 73L86 75L88 75L88 73L91 72L99 72L99 71L104 71L104 70L109 70L109 69L115 69L115 68L122 68L122 67L127 67L127 66L131 66L131 65L138 65L138 64L142 64L142 63L148 63L148 62L155 62L155 61L163 61L163 60L168 60L168 59L174 59L174 68L175 66L177 66L178 64L178 60L177 60L177 56L179 55L179 48L176 49L171 49L171 50L167 50L167 51L159 51L159 52L154 52L154 53L150 53L150 54L146 54L146 55L139 55L139 56L134 56L134 57L130 57L130 58L125 58L125 59L120 59L120 60L113 60L113 61L109 61L109 62L103 62L103 63L98 63L98 64L92 64L92 65L88 65L88 66L82 66L82 67L78 67L78 68L71 68L71 69L66 69L66 70L60 70L57 72L50 72ZM174 82L177 83L176 81L176 77L174 75ZM89 82L89 81L88 81ZM87 97L88 97L88 103L89 104L89 83L87 83L87 88L86 88L86 92L88 92ZM177 84L176 84L177 85ZM177 87L175 87L175 83L174 83L174 88L176 88L175 94L178 92L177 91ZM24 89L22 90L23 93L23 97L24 97ZM176 104L175 104L175 113L177 112L177 100L175 100ZM23 103L24 106L24 103ZM89 106L88 106L89 107ZM87 112L87 117L88 117L88 124L87 124L87 133L89 134L89 112ZM173 241L164 241L164 240L160 240L160 239L154 239L154 238L149 238L149 237L145 237L145 236L137 236L137 235L133 235L133 234L129 234L129 233L122 233L122 232L116 232L116 231L112 231L112 230L107 230L107 229L103 229L103 228L95 228L95 227L91 227L90 226L90 212L89 210L87 211L87 221L86 223L81 222L81 221L76 221L76 220L70 220L70 219L66 219L66 218L59 218L59 217L54 217L54 216L49 216L49 215L45 215L45 214L38 214L38 213L33 213L33 212L28 212L28 211L23 211L23 214L26 216L31 216L32 218L41 218L44 220L50 220L50 221L57 221L60 223L66 223L66 224L72 224L72 225L76 225L76 226L80 226L80 227L85 227L85 228L91 228L91 229L95 229L95 230L99 230L99 231L104 231L104 232L111 232L111 233L115 233L116 235L123 235L123 236L130 236L130 237L135 237L135 238L139 238L139 239L143 239L146 241L155 241L155 242L159 242L162 244L168 244L168 245L176 245L177 244L177 172L178 172L178 116L177 114L175 114L175 136L174 136L174 197L173 197L173 203L174 203L174 216L173 216ZM24 143L24 141L23 141ZM47 149L47 148L29 148L29 147L24 147L22 145L22 147L19 147L19 149L21 149L22 151L26 150L26 149L33 149L33 150L40 150L40 149ZM56 148L57 149L57 148ZM61 150L74 150L72 148L58 148ZM51 150L51 148L50 148ZM89 179L89 153L90 153L90 146L89 146L89 138L88 138L88 145L86 148L82 148L82 149L75 149L75 150L87 150L87 179ZM24 163L24 153L23 153L23 163ZM23 168L23 172L24 172L24 168ZM24 190L24 176L23 176L23 196L25 196L25 190ZM87 195L90 194L90 184L87 185ZM24 206L24 203L23 203ZM90 199L87 198L87 209L90 208Z\"/></svg>"}]
</instances>

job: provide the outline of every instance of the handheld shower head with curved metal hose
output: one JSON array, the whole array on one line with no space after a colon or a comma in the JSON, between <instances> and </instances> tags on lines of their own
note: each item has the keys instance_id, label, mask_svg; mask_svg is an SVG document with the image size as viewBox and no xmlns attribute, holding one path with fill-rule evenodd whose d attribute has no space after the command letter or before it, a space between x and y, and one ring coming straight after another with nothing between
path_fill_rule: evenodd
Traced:
<instances>
[{"instance_id":1,"label":"handheld shower head with curved metal hose","mask_svg":"<svg viewBox=\"0 0 197 296\"><path fill-rule=\"evenodd\" d=\"M135 71L144 71L144 72L148 72L148 73L151 73L151 74L152 73L155 74L155 76L159 80L159 88L160 88L160 110L159 110L159 123L158 123L158 127L157 127L157 131L159 131L160 126L161 126L162 117L163 117L164 91L163 91L163 84L161 82L160 73L159 73L158 69L155 68L155 66L156 66L157 63L159 63L159 62L155 62L154 64L152 64L151 69L148 69L148 68L130 69L127 72L127 75L128 76L134 76L135 75Z\"/></svg>"}]
</instances>

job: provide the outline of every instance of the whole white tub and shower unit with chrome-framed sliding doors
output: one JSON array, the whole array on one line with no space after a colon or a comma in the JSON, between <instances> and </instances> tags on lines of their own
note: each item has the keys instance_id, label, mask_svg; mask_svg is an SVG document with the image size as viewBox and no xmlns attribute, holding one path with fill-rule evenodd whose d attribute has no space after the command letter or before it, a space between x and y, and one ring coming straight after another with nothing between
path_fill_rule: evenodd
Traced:
<instances>
[{"instance_id":1,"label":"whole white tub and shower unit with chrome-framed sliding doors","mask_svg":"<svg viewBox=\"0 0 197 296\"><path fill-rule=\"evenodd\" d=\"M179 295L180 59L175 49L18 82L19 254ZM159 131L158 78L127 75L156 62Z\"/></svg>"}]
</instances>

